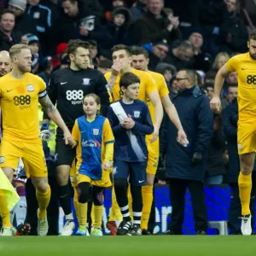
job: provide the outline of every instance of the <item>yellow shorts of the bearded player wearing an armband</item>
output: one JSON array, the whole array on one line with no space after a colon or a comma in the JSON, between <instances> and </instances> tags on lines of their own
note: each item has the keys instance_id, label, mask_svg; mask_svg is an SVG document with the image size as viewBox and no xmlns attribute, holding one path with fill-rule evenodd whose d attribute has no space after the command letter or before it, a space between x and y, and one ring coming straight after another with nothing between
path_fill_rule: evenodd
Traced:
<instances>
[{"instance_id":1,"label":"yellow shorts of the bearded player wearing an armband","mask_svg":"<svg viewBox=\"0 0 256 256\"><path fill-rule=\"evenodd\" d=\"M0 167L16 170L19 158L23 160L26 177L47 177L48 171L41 140L23 143L3 138L0 147Z\"/></svg>"}]
</instances>

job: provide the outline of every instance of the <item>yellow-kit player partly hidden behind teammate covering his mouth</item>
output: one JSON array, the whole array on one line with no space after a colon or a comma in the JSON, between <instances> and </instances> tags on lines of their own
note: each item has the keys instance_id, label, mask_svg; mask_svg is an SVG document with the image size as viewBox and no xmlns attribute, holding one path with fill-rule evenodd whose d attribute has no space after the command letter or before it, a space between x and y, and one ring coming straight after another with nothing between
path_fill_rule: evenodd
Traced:
<instances>
[{"instance_id":1,"label":"yellow-kit player partly hidden behind teammate covering his mouth","mask_svg":"<svg viewBox=\"0 0 256 256\"><path fill-rule=\"evenodd\" d=\"M166 80L163 75L160 73L155 73L148 70L148 63L149 63L149 56L148 51L143 49L143 47L136 47L132 49L132 67L136 68L137 70L142 70L149 73L154 82L156 84L156 88L159 92L161 102L163 107L166 110L169 118L177 127L177 140L178 141L186 141L187 137L185 132L183 131L183 126L181 125L180 119L177 115L177 110L172 104L170 97L169 97L169 90L166 85ZM154 124L155 116L154 116L154 106L148 99L148 109L151 115L151 119ZM151 136L147 138L147 145L148 145L148 166L147 166L147 174L149 183L147 186L143 187L143 200L146 203L143 203L143 218L142 218L142 230L144 230L144 234L146 233L145 230L148 230L148 218L151 211L151 204L149 205L147 201L153 201L153 184L154 184L154 176L158 166L159 160L159 140L156 140L154 143L149 143ZM150 200L147 198L150 196ZM152 199L151 199L152 198ZM143 202L144 202L143 201Z\"/></svg>"}]
</instances>

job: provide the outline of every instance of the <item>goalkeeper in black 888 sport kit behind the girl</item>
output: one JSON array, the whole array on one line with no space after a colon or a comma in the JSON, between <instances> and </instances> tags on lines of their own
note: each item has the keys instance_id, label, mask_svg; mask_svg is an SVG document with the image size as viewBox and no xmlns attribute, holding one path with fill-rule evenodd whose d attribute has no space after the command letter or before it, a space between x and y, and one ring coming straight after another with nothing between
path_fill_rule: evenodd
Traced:
<instances>
[{"instance_id":1,"label":"goalkeeper in black 888 sport kit behind the girl","mask_svg":"<svg viewBox=\"0 0 256 256\"><path fill-rule=\"evenodd\" d=\"M90 93L95 93L100 97L102 115L106 116L108 113L107 81L101 72L90 68L89 49L90 44L87 42L79 39L70 40L67 44L67 55L71 60L70 67L55 71L49 82L49 98L54 104L57 104L56 108L61 113L61 117L70 131L72 131L75 119L84 115L83 99L84 96ZM47 130L48 121L48 116L44 115L43 129L45 130ZM66 217L61 236L71 236L75 227L68 185L69 176L73 177L73 183L76 183L74 180L76 175L70 174L74 158L75 148L65 144L62 131L57 128L55 148L56 178L59 185L59 201ZM77 190L74 190L77 193Z\"/></svg>"}]
</instances>

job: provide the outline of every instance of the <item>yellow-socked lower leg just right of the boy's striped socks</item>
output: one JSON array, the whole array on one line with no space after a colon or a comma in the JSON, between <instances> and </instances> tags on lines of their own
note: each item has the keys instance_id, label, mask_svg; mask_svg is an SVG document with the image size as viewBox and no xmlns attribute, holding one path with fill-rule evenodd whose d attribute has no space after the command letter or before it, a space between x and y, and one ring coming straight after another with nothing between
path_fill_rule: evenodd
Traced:
<instances>
[{"instance_id":1,"label":"yellow-socked lower leg just right of the boy's striped socks","mask_svg":"<svg viewBox=\"0 0 256 256\"><path fill-rule=\"evenodd\" d=\"M148 219L151 212L153 202L153 186L154 186L154 174L147 173L147 185L142 187L143 192L143 215L141 229L143 235L151 235L148 231Z\"/></svg>"}]
</instances>

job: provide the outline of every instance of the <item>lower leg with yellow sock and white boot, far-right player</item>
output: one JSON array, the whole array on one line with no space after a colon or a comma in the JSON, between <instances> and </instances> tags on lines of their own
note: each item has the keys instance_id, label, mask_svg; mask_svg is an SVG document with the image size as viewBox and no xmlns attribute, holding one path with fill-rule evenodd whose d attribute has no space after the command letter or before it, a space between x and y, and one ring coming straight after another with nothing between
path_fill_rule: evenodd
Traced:
<instances>
[{"instance_id":1,"label":"lower leg with yellow sock and white boot, far-right player","mask_svg":"<svg viewBox=\"0 0 256 256\"><path fill-rule=\"evenodd\" d=\"M254 152L240 155L241 172L238 177L238 185L241 200L241 234L244 236L249 236L252 234L250 198L254 160Z\"/></svg>"}]
</instances>

